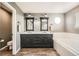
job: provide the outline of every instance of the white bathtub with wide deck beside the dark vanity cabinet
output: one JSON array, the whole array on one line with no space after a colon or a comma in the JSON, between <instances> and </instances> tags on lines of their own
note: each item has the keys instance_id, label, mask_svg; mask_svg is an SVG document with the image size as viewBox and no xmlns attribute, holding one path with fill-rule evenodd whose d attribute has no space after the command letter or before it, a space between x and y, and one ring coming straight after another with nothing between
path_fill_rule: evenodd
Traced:
<instances>
[{"instance_id":1,"label":"white bathtub with wide deck beside the dark vanity cabinet","mask_svg":"<svg viewBox=\"0 0 79 59\"><path fill-rule=\"evenodd\" d=\"M79 34L53 33L54 48L61 56L79 56Z\"/></svg>"}]
</instances>

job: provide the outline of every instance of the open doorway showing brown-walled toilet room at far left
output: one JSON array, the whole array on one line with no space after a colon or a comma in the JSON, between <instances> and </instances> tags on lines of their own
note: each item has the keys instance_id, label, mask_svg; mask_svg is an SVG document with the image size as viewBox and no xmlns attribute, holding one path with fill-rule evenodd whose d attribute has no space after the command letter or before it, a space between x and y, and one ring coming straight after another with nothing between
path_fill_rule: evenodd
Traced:
<instances>
[{"instance_id":1,"label":"open doorway showing brown-walled toilet room at far left","mask_svg":"<svg viewBox=\"0 0 79 59\"><path fill-rule=\"evenodd\" d=\"M0 52L12 52L12 12L0 3ZM9 43L9 44L8 44Z\"/></svg>"}]
</instances>

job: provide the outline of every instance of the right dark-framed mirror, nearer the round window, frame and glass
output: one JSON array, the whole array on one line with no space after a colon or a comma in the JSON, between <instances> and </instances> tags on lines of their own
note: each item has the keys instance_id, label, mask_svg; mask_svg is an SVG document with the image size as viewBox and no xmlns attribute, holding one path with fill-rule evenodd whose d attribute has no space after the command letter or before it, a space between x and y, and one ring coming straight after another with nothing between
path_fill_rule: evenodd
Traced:
<instances>
[{"instance_id":1,"label":"right dark-framed mirror, nearer the round window, frame and glass","mask_svg":"<svg viewBox=\"0 0 79 59\"><path fill-rule=\"evenodd\" d=\"M40 17L40 31L48 31L48 17Z\"/></svg>"}]
</instances>

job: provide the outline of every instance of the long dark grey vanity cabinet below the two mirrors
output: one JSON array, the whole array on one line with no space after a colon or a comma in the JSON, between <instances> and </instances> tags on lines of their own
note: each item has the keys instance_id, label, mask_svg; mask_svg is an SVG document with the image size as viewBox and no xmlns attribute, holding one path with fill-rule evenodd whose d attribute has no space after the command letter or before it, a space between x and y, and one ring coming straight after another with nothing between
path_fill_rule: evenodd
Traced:
<instances>
[{"instance_id":1,"label":"long dark grey vanity cabinet below the two mirrors","mask_svg":"<svg viewBox=\"0 0 79 59\"><path fill-rule=\"evenodd\" d=\"M21 34L21 48L53 48L52 34Z\"/></svg>"}]
</instances>

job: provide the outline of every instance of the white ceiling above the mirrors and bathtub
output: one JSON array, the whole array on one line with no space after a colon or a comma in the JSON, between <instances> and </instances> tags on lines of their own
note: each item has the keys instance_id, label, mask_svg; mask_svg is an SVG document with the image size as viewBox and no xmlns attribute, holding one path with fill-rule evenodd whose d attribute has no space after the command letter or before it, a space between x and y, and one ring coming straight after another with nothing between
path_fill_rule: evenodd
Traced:
<instances>
[{"instance_id":1,"label":"white ceiling above the mirrors and bathtub","mask_svg":"<svg viewBox=\"0 0 79 59\"><path fill-rule=\"evenodd\" d=\"M78 2L16 2L24 13L65 13Z\"/></svg>"}]
</instances>

